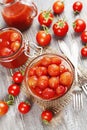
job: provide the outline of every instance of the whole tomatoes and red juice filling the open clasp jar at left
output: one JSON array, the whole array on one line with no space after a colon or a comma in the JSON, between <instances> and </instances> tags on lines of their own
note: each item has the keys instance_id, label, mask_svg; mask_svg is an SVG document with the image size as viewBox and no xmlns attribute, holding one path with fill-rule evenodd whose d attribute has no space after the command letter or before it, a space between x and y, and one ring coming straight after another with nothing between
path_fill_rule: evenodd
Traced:
<instances>
[{"instance_id":1,"label":"whole tomatoes and red juice filling the open clasp jar at left","mask_svg":"<svg viewBox=\"0 0 87 130\"><path fill-rule=\"evenodd\" d=\"M16 33L17 36L13 37ZM16 44L17 43L17 44ZM28 57L24 54L22 37L15 30L6 30L0 33L0 63L7 68L18 68Z\"/></svg>"}]
</instances>

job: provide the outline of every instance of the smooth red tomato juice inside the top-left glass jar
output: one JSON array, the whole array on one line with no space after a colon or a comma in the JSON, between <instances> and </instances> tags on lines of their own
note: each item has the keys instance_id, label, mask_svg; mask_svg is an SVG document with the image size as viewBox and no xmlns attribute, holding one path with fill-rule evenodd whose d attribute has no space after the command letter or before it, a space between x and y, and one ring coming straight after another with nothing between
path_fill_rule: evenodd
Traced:
<instances>
[{"instance_id":1,"label":"smooth red tomato juice inside the top-left glass jar","mask_svg":"<svg viewBox=\"0 0 87 130\"><path fill-rule=\"evenodd\" d=\"M8 26L16 27L23 31L32 24L32 13L33 7L16 2L11 6L5 7L2 16Z\"/></svg>"}]
</instances>

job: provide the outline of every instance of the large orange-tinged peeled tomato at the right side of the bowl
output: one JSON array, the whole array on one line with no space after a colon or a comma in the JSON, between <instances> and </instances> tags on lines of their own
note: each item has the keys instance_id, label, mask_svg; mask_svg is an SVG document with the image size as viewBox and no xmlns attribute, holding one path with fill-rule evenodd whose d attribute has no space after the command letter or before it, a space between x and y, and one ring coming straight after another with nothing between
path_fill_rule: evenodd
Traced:
<instances>
[{"instance_id":1,"label":"large orange-tinged peeled tomato at the right side of the bowl","mask_svg":"<svg viewBox=\"0 0 87 130\"><path fill-rule=\"evenodd\" d=\"M59 82L61 85L70 86L72 84L73 77L70 72L64 72L60 75Z\"/></svg>"}]
</instances>

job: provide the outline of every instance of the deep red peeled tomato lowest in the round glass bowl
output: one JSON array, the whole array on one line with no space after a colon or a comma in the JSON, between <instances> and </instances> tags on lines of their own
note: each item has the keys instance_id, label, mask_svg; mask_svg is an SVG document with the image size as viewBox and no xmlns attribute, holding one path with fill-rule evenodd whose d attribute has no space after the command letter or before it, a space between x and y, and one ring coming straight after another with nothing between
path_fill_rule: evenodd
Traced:
<instances>
[{"instance_id":1,"label":"deep red peeled tomato lowest in the round glass bowl","mask_svg":"<svg viewBox=\"0 0 87 130\"><path fill-rule=\"evenodd\" d=\"M42 92L44 99L51 99L55 96L55 91L52 88L45 88Z\"/></svg>"}]
</instances>

